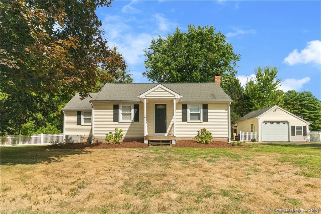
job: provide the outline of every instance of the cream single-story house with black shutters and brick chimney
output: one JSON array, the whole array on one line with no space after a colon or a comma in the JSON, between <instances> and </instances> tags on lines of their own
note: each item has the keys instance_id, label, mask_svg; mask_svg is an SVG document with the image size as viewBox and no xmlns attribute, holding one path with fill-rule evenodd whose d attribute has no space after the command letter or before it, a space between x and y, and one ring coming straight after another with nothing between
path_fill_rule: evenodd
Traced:
<instances>
[{"instance_id":1,"label":"cream single-story house with black shutters and brick chimney","mask_svg":"<svg viewBox=\"0 0 321 214\"><path fill-rule=\"evenodd\" d=\"M123 130L123 141L191 139L206 128L214 140L230 141L230 103L221 76L213 83L107 83L62 109L64 139L106 142L106 133Z\"/></svg>"}]
</instances>

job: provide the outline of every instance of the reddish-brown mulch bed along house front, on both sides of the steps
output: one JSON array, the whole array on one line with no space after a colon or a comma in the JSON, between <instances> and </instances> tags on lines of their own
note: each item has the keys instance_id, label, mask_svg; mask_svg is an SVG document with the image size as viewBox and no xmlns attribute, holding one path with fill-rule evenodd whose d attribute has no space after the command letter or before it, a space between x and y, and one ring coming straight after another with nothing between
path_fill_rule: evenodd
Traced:
<instances>
[{"instance_id":1,"label":"reddish-brown mulch bed along house front, on both sides of the steps","mask_svg":"<svg viewBox=\"0 0 321 214\"><path fill-rule=\"evenodd\" d=\"M248 146L232 146L223 141L212 141L210 144L197 143L195 140L178 140L176 144L171 147L190 147L190 148L248 148ZM43 148L53 149L114 149L114 148L148 148L148 144L143 142L122 142L120 144L108 144L108 143L66 143L58 145L48 145Z\"/></svg>"}]
</instances>

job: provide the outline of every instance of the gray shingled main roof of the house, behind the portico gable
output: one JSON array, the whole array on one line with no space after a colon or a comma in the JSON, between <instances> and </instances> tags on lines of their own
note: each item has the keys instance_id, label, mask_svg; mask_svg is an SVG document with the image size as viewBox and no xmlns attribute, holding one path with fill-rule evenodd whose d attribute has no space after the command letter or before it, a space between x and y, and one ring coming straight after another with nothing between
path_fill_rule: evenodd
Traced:
<instances>
[{"instance_id":1,"label":"gray shingled main roof of the house, behind the portico gable","mask_svg":"<svg viewBox=\"0 0 321 214\"><path fill-rule=\"evenodd\" d=\"M139 101L138 96L158 83L106 83L95 101ZM181 101L208 100L231 101L231 98L217 83L162 83L180 94Z\"/></svg>"}]
</instances>

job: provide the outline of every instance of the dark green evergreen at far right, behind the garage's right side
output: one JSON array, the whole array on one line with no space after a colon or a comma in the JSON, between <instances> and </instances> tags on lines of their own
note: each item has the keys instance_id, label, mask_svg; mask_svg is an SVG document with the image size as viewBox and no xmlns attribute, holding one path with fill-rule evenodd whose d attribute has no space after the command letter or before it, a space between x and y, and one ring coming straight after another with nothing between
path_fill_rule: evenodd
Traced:
<instances>
[{"instance_id":1,"label":"dark green evergreen at far right, behind the garage's right side","mask_svg":"<svg viewBox=\"0 0 321 214\"><path fill-rule=\"evenodd\" d=\"M312 123L309 129L321 130L321 101L309 91L288 91L283 96L283 108L291 113L303 116L304 120Z\"/></svg>"}]
</instances>

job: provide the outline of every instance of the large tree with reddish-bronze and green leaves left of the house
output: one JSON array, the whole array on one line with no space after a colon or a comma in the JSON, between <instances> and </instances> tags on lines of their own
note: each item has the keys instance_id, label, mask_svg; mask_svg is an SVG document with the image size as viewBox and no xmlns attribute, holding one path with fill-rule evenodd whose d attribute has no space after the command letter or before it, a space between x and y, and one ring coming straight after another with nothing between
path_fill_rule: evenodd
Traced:
<instances>
[{"instance_id":1,"label":"large tree with reddish-bronze and green leaves left of the house","mask_svg":"<svg viewBox=\"0 0 321 214\"><path fill-rule=\"evenodd\" d=\"M95 10L111 1L4 1L1 10L1 135L41 114L62 124L61 105L77 91L118 78L126 64L109 48ZM57 120L59 119L59 122ZM38 125L37 125L38 126ZM58 127L58 128L60 128Z\"/></svg>"}]
</instances>

